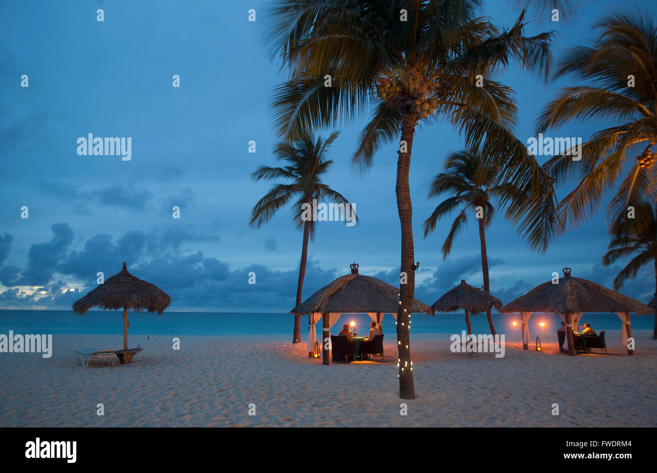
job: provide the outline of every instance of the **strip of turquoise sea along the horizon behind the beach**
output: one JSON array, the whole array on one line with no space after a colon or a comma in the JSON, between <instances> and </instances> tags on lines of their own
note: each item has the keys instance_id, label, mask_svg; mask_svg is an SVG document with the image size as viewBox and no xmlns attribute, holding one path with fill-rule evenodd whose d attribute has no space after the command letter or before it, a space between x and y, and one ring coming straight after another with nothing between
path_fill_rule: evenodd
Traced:
<instances>
[{"instance_id":1,"label":"strip of turquoise sea along the horizon behind the beach","mask_svg":"<svg viewBox=\"0 0 657 473\"><path fill-rule=\"evenodd\" d=\"M129 313L129 333L139 335L286 335L292 336L294 316L286 313L211 313L211 312L164 312ZM355 321L359 333L369 327L371 319L367 314L345 314L340 317L332 331ZM632 328L652 329L654 315L630 315ZM302 338L307 334L307 316L302 316ZM486 333L488 323L486 314L470 317L472 331ZM515 329L513 321L520 322L516 314L493 314L495 328L500 333L512 334ZM411 318L413 333L459 333L465 329L463 314L421 315ZM535 313L530 319L530 330L541 330L539 323L544 322L547 330L554 331L561 319L554 314ZM618 315L609 313L584 314L581 322L591 323L597 332L600 330L620 329ZM518 324L518 327L520 325ZM321 321L317 328L321 330ZM24 334L122 334L122 311L89 311L78 315L72 311L31 311L0 310L0 333L9 330ZM384 333L394 333L395 320L388 314L383 319Z\"/></svg>"}]
</instances>

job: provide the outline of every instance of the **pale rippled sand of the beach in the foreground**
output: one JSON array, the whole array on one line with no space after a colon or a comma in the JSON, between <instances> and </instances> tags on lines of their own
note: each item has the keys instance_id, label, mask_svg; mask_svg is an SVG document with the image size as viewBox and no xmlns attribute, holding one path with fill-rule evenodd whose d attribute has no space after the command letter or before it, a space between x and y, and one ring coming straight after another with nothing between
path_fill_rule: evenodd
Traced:
<instances>
[{"instance_id":1,"label":"pale rippled sand of the beach in the foreground","mask_svg":"<svg viewBox=\"0 0 657 473\"><path fill-rule=\"evenodd\" d=\"M655 426L657 340L633 335L634 356L610 330L606 356L558 355L556 337L543 353L522 351L509 337L495 359L411 334L412 401L397 395L394 334L390 363L321 366L288 336L182 336L180 351L169 336L130 336L144 349L133 363L88 368L72 363L73 348L116 348L122 336L55 335L50 359L0 353L0 426Z\"/></svg>"}]
</instances>

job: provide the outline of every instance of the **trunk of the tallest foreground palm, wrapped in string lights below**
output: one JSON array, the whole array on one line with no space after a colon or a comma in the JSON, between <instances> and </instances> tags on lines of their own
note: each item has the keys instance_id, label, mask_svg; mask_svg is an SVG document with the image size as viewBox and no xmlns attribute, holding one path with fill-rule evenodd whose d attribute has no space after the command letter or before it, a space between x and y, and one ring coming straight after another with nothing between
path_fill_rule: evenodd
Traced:
<instances>
[{"instance_id":1,"label":"trunk of the tallest foreground palm, wrapped in string lights below","mask_svg":"<svg viewBox=\"0 0 657 473\"><path fill-rule=\"evenodd\" d=\"M413 367L411 361L411 344L409 322L415 297L415 273L413 263L413 207L411 206L411 189L409 187L409 168L411 167L411 148L415 134L415 116L407 112L401 125L401 141L406 142L406 152L397 152L397 212L401 224L401 272L406 274L406 284L399 284L399 312L397 313L397 350L399 351L399 397L415 399L413 385Z\"/></svg>"}]
</instances>

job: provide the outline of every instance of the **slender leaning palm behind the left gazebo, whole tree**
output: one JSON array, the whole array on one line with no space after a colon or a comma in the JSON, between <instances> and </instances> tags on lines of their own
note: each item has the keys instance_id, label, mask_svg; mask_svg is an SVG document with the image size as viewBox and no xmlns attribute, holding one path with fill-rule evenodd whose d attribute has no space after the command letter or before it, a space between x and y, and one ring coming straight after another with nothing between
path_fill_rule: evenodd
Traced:
<instances>
[{"instance_id":1,"label":"slender leaning palm behind the left gazebo, whole tree","mask_svg":"<svg viewBox=\"0 0 657 473\"><path fill-rule=\"evenodd\" d=\"M299 280L296 286L296 305L301 304L302 287L304 286L304 277L306 276L306 259L308 253L308 239L314 240L315 221L304 218L304 212L310 209L313 212L313 205L323 199L328 199L334 204L350 206L342 194L330 189L322 183L322 175L327 173L332 160L327 160L326 153L328 147L338 137L338 132L332 133L330 137L322 142L321 137L317 138L310 134L304 134L296 140L284 140L278 143L274 148L274 154L277 159L287 163L284 168L270 168L269 166L260 166L258 170L252 173L252 177L259 181L260 179L288 179L292 181L289 184L276 184L260 200L251 211L250 225L260 227L263 223L271 220L277 210L284 207L290 200L296 199L292 205L292 219L299 228L304 229L304 240L301 249L301 263L299 264ZM314 201L313 201L314 200ZM305 205L304 205L305 204ZM358 217L353 210L353 217L358 221ZM292 343L301 341L301 315L294 315L294 333L292 334Z\"/></svg>"}]
</instances>

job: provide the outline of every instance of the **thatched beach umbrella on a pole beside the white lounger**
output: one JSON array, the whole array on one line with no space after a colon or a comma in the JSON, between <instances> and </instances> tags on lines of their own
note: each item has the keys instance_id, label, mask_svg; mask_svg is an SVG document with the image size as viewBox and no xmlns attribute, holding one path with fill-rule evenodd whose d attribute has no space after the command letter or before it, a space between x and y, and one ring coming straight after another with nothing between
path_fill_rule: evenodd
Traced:
<instances>
[{"instance_id":1,"label":"thatched beach umbrella on a pole beside the white lounger","mask_svg":"<svg viewBox=\"0 0 657 473\"><path fill-rule=\"evenodd\" d=\"M91 307L124 309L124 350L127 350L128 309L135 312L146 310L162 314L170 303L171 298L166 292L155 284L131 275L124 262L120 273L110 277L104 284L99 284L89 294L77 300L73 304L73 311L84 314Z\"/></svg>"}]
</instances>

